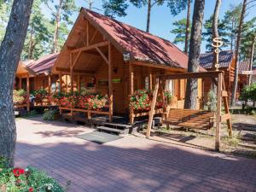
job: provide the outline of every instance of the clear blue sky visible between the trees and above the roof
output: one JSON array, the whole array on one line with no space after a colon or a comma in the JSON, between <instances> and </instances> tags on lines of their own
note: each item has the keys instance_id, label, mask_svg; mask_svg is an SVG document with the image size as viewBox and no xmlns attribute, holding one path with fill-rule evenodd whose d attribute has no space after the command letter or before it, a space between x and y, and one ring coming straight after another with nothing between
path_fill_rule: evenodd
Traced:
<instances>
[{"instance_id":1,"label":"clear blue sky visible between the trees and above the roof","mask_svg":"<svg viewBox=\"0 0 256 192\"><path fill-rule=\"evenodd\" d=\"M102 0L93 0L93 6L102 9ZM219 17L222 18L224 16L224 12L230 9L230 4L237 5L241 3L242 0L223 0L221 4L221 8L219 11ZM78 7L88 7L88 3L84 0L76 0ZM192 4L192 13L193 13L193 4ZM215 6L215 0L206 0L205 6L205 15L204 20L207 20L213 13L213 9ZM43 8L47 9L47 8ZM97 12L102 13L102 11L96 10ZM247 15L246 20L249 20L253 16L255 16L256 7L250 9L250 14ZM78 14L73 15L73 20L76 19ZM170 41L173 41L174 35L170 32L173 28L172 22L174 20L180 20L186 17L186 11L183 11L181 14L177 16L172 16L170 10L167 8L166 4L164 6L157 7L155 6L152 9L151 14L151 23L150 23L150 32L154 35L157 35L161 38L166 38ZM192 18L192 14L191 14ZM143 9L137 9L134 6L130 5L127 10L127 15L125 17L117 17L117 20L123 21L131 26L135 26L139 29L145 30L146 28L146 20L147 20L147 9L144 7ZM177 44L180 49L183 49L183 44ZM205 51L205 43L202 43L201 52Z\"/></svg>"}]
</instances>

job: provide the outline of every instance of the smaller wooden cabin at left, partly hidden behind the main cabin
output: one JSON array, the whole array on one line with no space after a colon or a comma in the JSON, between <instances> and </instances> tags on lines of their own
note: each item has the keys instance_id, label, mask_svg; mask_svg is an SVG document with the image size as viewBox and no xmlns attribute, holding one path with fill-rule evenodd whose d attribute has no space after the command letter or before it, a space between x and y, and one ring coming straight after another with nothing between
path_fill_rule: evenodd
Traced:
<instances>
[{"instance_id":1,"label":"smaller wooden cabin at left, partly hidden behind the main cabin","mask_svg":"<svg viewBox=\"0 0 256 192\"><path fill-rule=\"evenodd\" d=\"M58 55L59 53L44 55L37 61L20 61L16 73L15 89L26 90L28 96L32 93L32 91L39 89L48 91L49 96L61 90L61 88L65 91L69 90L69 75L63 73L60 84L59 75L51 73L52 67L54 67ZM47 98L44 99L44 102L35 102L34 104L46 106L51 103Z\"/></svg>"}]
</instances>

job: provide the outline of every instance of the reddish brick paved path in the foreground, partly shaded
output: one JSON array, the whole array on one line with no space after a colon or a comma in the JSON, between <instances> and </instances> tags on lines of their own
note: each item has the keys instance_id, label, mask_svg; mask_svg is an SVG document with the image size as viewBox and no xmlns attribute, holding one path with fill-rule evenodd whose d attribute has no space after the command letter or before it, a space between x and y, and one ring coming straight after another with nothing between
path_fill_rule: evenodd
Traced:
<instances>
[{"instance_id":1,"label":"reddish brick paved path in the foreground, partly shaded","mask_svg":"<svg viewBox=\"0 0 256 192\"><path fill-rule=\"evenodd\" d=\"M256 191L256 160L127 136L99 145L82 126L18 119L16 166L48 172L69 191Z\"/></svg>"}]
</instances>

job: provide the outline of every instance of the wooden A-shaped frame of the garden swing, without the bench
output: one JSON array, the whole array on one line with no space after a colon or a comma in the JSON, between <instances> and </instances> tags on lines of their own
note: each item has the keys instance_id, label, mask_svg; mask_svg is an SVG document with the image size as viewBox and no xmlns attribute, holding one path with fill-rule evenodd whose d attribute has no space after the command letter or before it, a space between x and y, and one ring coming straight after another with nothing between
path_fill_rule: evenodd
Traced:
<instances>
[{"instance_id":1,"label":"wooden A-shaped frame of the garden swing, without the bench","mask_svg":"<svg viewBox=\"0 0 256 192\"><path fill-rule=\"evenodd\" d=\"M164 82L166 79L212 79L214 84L217 85L217 111L215 112L215 121L216 121L216 136L215 136L215 149L219 151L220 146L220 129L221 122L226 121L229 129L229 136L232 137L232 125L230 118L230 110L228 104L228 93L225 90L224 85L224 72L222 71L212 71L212 72L203 72L203 73L179 73L171 75L162 75L156 79L153 92L153 101L151 103L151 109L149 111L148 119L148 131L147 138L150 138L150 132L152 127L152 122L155 114L155 103L157 99L158 92L160 90L160 95L163 95ZM221 114L222 102L224 102L224 114ZM164 105L165 108L165 105ZM166 108L165 108L166 109Z\"/></svg>"}]
</instances>

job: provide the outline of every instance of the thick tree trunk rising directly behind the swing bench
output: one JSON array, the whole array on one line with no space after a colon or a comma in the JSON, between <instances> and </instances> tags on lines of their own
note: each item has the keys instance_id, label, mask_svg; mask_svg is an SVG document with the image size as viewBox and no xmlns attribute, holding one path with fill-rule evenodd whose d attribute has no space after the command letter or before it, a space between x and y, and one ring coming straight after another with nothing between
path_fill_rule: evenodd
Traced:
<instances>
[{"instance_id":1,"label":"thick tree trunk rising directly behind the swing bench","mask_svg":"<svg viewBox=\"0 0 256 192\"><path fill-rule=\"evenodd\" d=\"M198 72L199 69L204 10L205 0L195 0L191 37L189 42L189 72ZM196 108L197 94L197 79L188 79L184 108Z\"/></svg>"}]
</instances>

